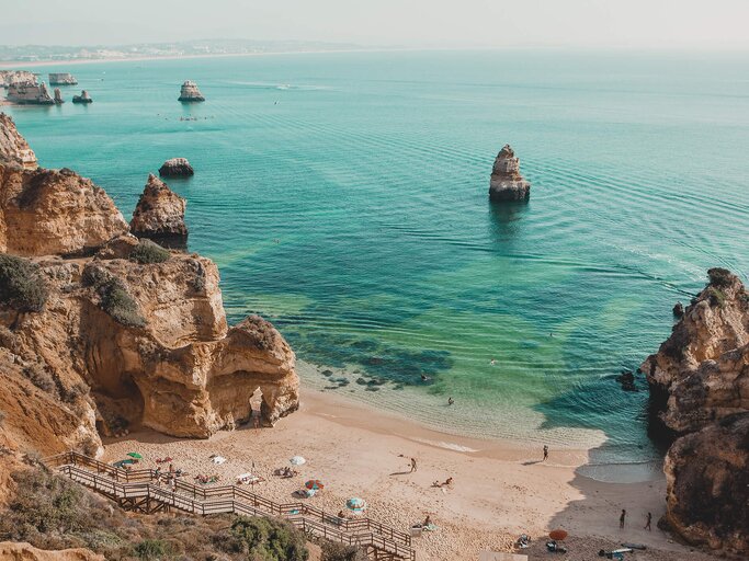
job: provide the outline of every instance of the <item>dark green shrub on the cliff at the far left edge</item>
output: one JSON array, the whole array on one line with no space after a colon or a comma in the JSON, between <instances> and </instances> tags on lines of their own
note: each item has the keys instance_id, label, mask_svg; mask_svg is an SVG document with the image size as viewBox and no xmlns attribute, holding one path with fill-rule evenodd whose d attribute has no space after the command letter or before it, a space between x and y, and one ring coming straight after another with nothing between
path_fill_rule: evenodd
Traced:
<instances>
[{"instance_id":1,"label":"dark green shrub on the cliff at the far left edge","mask_svg":"<svg viewBox=\"0 0 749 561\"><path fill-rule=\"evenodd\" d=\"M0 304L18 311L42 311L49 288L39 266L14 255L0 255Z\"/></svg>"}]
</instances>

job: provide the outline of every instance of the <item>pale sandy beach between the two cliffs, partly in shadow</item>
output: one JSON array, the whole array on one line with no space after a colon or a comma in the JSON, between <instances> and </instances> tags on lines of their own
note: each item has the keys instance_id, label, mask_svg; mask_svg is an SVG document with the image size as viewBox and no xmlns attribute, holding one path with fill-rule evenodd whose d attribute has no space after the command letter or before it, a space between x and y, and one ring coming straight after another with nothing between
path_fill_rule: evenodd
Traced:
<instances>
[{"instance_id":1,"label":"pale sandy beach between the two cliffs, partly in shadow","mask_svg":"<svg viewBox=\"0 0 749 561\"><path fill-rule=\"evenodd\" d=\"M252 471L254 462L254 472L268 480L256 491L279 502L292 500L306 480L320 479L325 490L309 500L318 507L337 513L348 497L361 496L368 516L404 530L430 515L439 529L415 540L419 559L478 559L486 549L509 550L520 534L538 541L557 527L576 538L570 542L576 559L592 559L601 547L622 541L649 547L638 559L683 559L690 551L656 527L665 506L662 477L638 483L594 481L578 473L588 450L558 451L552 443L548 460L542 461L536 446L444 435L311 389L303 392L300 410L273 428L240 427L203 440L140 431L105 445L105 461L137 450L143 466L155 467L157 458L170 456L190 479L218 474L218 484ZM227 461L214 465L214 454ZM295 455L308 460L299 476L274 477L274 469ZM410 458L417 460L416 472L410 472ZM432 486L451 477L451 485ZM622 508L628 517L620 530ZM648 512L652 531L643 529ZM535 546L530 551L545 558L544 548Z\"/></svg>"}]
</instances>

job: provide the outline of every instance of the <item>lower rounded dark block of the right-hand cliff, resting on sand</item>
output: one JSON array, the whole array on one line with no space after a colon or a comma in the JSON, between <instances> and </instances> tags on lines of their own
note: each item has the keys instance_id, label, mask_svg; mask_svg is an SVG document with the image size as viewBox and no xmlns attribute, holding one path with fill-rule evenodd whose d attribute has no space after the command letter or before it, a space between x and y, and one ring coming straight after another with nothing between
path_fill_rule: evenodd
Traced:
<instances>
[{"instance_id":1,"label":"lower rounded dark block of the right-hand cliff, resting on sand","mask_svg":"<svg viewBox=\"0 0 749 561\"><path fill-rule=\"evenodd\" d=\"M661 526L694 546L749 556L749 412L679 438L666 457Z\"/></svg>"}]
</instances>

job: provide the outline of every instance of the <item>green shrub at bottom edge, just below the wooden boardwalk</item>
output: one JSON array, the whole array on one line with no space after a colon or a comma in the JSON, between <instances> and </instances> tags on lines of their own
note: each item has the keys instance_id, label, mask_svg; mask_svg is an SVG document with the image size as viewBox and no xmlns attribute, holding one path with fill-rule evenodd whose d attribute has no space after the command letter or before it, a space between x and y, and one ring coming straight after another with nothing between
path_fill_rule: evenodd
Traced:
<instances>
[{"instance_id":1,"label":"green shrub at bottom edge, just below the wooden boardwalk","mask_svg":"<svg viewBox=\"0 0 749 561\"><path fill-rule=\"evenodd\" d=\"M273 518L240 516L231 525L229 543L241 546L248 559L259 561L306 561L309 557L303 533L291 524Z\"/></svg>"}]
</instances>

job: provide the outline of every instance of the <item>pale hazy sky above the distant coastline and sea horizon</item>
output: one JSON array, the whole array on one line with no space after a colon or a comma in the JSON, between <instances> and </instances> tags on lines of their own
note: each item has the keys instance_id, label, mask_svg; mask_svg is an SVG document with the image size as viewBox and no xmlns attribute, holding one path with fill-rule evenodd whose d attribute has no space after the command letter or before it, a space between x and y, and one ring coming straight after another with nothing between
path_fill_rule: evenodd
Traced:
<instances>
[{"instance_id":1,"label":"pale hazy sky above the distant coastline and sea horizon","mask_svg":"<svg viewBox=\"0 0 749 561\"><path fill-rule=\"evenodd\" d=\"M0 44L748 48L749 0L0 0Z\"/></svg>"}]
</instances>

